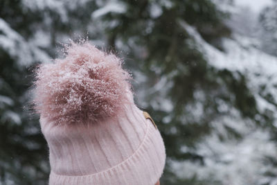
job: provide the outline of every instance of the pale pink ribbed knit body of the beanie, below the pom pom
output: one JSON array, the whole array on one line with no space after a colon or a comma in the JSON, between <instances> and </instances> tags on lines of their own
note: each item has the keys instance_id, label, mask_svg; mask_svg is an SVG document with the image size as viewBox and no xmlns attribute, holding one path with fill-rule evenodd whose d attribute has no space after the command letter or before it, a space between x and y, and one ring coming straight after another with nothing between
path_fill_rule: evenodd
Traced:
<instances>
[{"instance_id":1,"label":"pale pink ribbed knit body of the beanie, below the pom pom","mask_svg":"<svg viewBox=\"0 0 277 185\"><path fill-rule=\"evenodd\" d=\"M154 185L166 151L150 119L133 103L97 123L56 125L40 118L50 151L50 185Z\"/></svg>"}]
</instances>

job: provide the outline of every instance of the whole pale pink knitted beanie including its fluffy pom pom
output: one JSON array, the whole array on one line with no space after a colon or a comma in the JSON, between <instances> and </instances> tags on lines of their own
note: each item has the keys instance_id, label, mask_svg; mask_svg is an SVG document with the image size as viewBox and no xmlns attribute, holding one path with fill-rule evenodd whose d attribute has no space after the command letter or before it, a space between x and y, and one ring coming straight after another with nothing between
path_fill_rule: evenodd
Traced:
<instances>
[{"instance_id":1,"label":"whole pale pink knitted beanie including its fluffy pom pom","mask_svg":"<svg viewBox=\"0 0 277 185\"><path fill-rule=\"evenodd\" d=\"M51 185L154 185L166 151L133 100L122 61L88 42L36 70L34 103L48 143Z\"/></svg>"}]
</instances>

